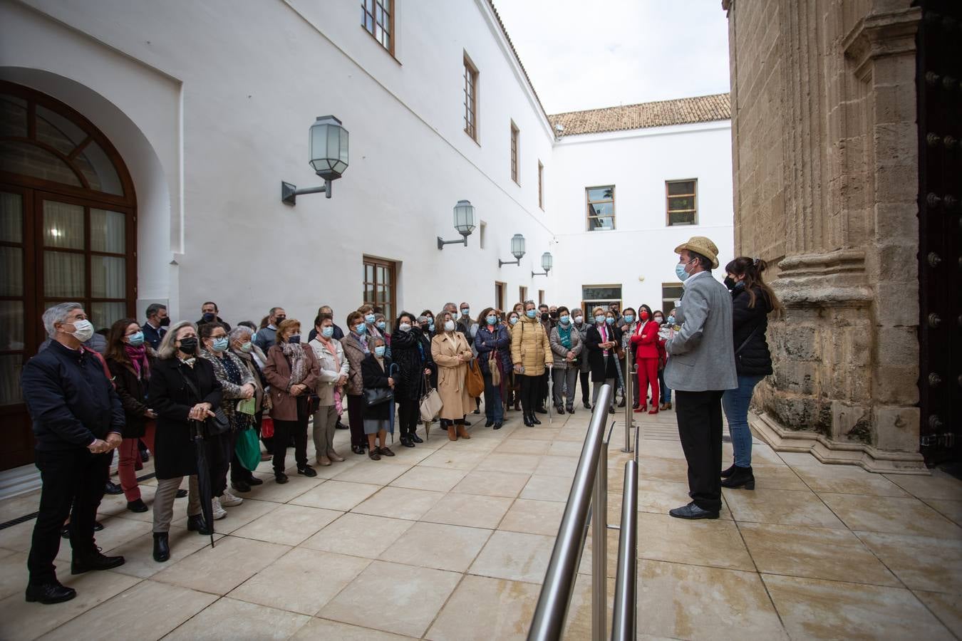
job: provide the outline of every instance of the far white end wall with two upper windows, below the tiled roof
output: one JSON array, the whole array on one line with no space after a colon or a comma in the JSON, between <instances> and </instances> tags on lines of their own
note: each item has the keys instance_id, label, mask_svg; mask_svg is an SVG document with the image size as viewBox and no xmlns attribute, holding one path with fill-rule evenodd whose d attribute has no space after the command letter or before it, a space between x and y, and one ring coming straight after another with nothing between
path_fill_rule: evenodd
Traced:
<instances>
[{"instance_id":1,"label":"far white end wall with two upper windows, below the tiled roof","mask_svg":"<svg viewBox=\"0 0 962 641\"><path fill-rule=\"evenodd\" d=\"M557 254L556 299L581 301L582 285L620 284L624 307L661 307L662 284L677 284L674 248L693 235L732 252L730 121L566 136L549 179ZM697 225L668 227L665 181L697 179ZM585 188L615 185L614 231L587 231Z\"/></svg>"}]
</instances>

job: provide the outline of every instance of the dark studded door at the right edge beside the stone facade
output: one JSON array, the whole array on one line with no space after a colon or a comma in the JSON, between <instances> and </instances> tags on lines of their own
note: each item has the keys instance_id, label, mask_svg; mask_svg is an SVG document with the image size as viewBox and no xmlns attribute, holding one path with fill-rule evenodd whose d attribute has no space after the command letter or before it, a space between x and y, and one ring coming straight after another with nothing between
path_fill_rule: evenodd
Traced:
<instances>
[{"instance_id":1,"label":"dark studded door at the right edge beside the stone facade","mask_svg":"<svg viewBox=\"0 0 962 641\"><path fill-rule=\"evenodd\" d=\"M919 391L931 466L962 460L962 2L918 4Z\"/></svg>"}]
</instances>

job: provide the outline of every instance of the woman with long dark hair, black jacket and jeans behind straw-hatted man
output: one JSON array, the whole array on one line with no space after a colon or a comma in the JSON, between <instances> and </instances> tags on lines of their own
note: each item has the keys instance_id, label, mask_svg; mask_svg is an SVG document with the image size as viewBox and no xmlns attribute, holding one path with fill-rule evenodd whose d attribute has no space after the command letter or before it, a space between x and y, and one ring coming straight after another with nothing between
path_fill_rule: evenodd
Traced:
<instances>
[{"instance_id":1,"label":"woman with long dark hair, black jacket and jeans behind straw-hatted man","mask_svg":"<svg viewBox=\"0 0 962 641\"><path fill-rule=\"evenodd\" d=\"M748 429L748 406L757 385L772 374L772 354L765 340L769 314L781 312L781 304L765 284L762 272L768 263L762 259L741 256L725 265L724 284L731 290L732 333L738 388L722 395L722 407L728 419L735 462L722 471L722 487L755 488L751 470L751 431Z\"/></svg>"}]
</instances>

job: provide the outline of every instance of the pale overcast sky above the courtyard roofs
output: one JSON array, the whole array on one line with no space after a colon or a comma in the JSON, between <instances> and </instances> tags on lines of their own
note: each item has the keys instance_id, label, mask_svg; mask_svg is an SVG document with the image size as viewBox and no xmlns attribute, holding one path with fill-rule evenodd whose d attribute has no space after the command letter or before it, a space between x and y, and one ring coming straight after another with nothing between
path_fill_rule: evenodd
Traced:
<instances>
[{"instance_id":1,"label":"pale overcast sky above the courtyard roofs","mask_svg":"<svg viewBox=\"0 0 962 641\"><path fill-rule=\"evenodd\" d=\"M494 0L548 113L728 90L721 0Z\"/></svg>"}]
</instances>

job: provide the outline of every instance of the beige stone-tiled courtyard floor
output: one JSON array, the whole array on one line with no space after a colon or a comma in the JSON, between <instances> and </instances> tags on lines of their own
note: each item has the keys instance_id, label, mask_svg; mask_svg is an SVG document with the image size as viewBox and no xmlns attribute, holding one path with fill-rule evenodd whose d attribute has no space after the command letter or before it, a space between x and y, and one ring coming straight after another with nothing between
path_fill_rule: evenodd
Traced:
<instances>
[{"instance_id":1,"label":"beige stone-tiled courtyard floor","mask_svg":"<svg viewBox=\"0 0 962 641\"><path fill-rule=\"evenodd\" d=\"M151 512L105 497L98 544L127 563L71 577L64 544L60 578L78 591L66 604L24 602L33 521L0 530L0 639L523 638L589 413L542 417L537 428L509 417L493 431L472 415L470 440L433 430L391 459L348 454L316 479L291 468L286 485L264 463L264 485L216 522L214 549L186 530L177 502L164 564L150 556ZM725 491L718 521L678 521L667 515L687 502L674 414L639 420L639 638L962 637L962 482L873 475L756 444L754 491ZM622 433L608 457L610 519L620 515ZM730 445L724 453L727 465ZM151 481L143 494L149 504ZM36 504L0 502L0 517ZM608 542L610 598L616 531ZM590 637L590 557L566 638Z\"/></svg>"}]
</instances>

